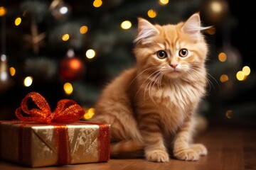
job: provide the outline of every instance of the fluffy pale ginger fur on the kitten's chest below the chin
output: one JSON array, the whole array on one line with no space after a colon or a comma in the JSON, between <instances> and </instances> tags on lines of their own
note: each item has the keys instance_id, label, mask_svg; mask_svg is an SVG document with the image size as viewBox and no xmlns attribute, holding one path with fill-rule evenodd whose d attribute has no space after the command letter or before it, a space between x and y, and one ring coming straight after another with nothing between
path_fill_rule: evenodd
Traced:
<instances>
[{"instance_id":1,"label":"fluffy pale ginger fur on the kitten's chest below the chin","mask_svg":"<svg viewBox=\"0 0 256 170\"><path fill-rule=\"evenodd\" d=\"M140 82L138 82L140 84ZM204 94L203 82L165 80L163 84L140 84L136 102L137 114L144 111L158 114L164 133L174 134L186 119L191 118Z\"/></svg>"}]
</instances>

